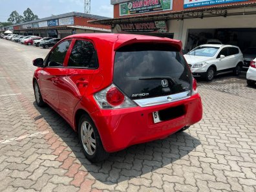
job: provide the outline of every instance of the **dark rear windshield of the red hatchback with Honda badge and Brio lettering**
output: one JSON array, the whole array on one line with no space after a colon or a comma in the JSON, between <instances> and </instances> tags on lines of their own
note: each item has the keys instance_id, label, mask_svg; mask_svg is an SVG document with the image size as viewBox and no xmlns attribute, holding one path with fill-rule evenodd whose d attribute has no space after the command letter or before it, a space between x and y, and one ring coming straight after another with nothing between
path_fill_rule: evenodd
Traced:
<instances>
[{"instance_id":1,"label":"dark rear windshield of the red hatchback with Honda badge and Brio lettering","mask_svg":"<svg viewBox=\"0 0 256 192\"><path fill-rule=\"evenodd\" d=\"M116 51L114 84L129 98L153 98L191 90L182 54L163 43L136 43Z\"/></svg>"}]
</instances>

